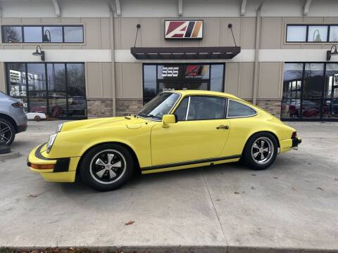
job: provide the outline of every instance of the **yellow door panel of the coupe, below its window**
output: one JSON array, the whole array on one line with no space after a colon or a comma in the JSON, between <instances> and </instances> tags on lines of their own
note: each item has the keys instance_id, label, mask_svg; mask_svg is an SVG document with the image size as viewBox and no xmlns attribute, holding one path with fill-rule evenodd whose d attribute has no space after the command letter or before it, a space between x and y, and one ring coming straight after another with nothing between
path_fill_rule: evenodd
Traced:
<instances>
[{"instance_id":1,"label":"yellow door panel of the coupe, below its window","mask_svg":"<svg viewBox=\"0 0 338 253\"><path fill-rule=\"evenodd\" d=\"M151 129L152 165L219 157L227 142L229 119L192 120Z\"/></svg>"}]
</instances>

